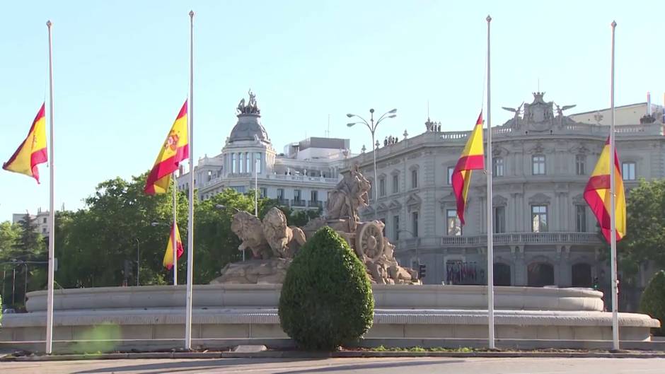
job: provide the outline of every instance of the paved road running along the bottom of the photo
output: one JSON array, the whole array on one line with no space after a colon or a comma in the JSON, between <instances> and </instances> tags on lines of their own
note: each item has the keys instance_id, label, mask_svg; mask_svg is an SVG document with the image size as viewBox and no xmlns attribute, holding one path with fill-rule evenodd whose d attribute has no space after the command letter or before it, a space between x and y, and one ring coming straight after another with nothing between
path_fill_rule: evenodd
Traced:
<instances>
[{"instance_id":1,"label":"paved road running along the bottom of the photo","mask_svg":"<svg viewBox=\"0 0 665 374\"><path fill-rule=\"evenodd\" d=\"M665 358L220 358L2 362L0 373L662 374L665 373Z\"/></svg>"}]
</instances>

